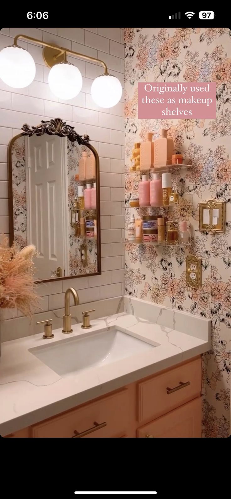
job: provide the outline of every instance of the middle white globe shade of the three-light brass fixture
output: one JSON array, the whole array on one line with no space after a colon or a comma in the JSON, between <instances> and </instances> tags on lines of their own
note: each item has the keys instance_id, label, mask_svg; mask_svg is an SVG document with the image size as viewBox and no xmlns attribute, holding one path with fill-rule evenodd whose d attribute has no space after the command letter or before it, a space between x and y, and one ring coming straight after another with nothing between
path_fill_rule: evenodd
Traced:
<instances>
[{"instance_id":1,"label":"middle white globe shade of the three-light brass fixture","mask_svg":"<svg viewBox=\"0 0 231 499\"><path fill-rule=\"evenodd\" d=\"M82 75L73 64L60 62L51 67L48 84L51 92L59 99L72 99L82 88Z\"/></svg>"}]
</instances>

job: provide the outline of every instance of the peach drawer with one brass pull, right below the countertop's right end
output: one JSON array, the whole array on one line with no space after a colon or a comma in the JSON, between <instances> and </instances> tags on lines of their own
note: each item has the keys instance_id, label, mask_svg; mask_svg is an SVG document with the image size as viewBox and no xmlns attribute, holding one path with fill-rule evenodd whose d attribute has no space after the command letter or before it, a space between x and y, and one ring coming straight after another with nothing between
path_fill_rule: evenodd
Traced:
<instances>
[{"instance_id":1,"label":"peach drawer with one brass pull, right below the countertop's right end","mask_svg":"<svg viewBox=\"0 0 231 499\"><path fill-rule=\"evenodd\" d=\"M200 358L142 381L138 383L138 421L158 418L199 396L200 391Z\"/></svg>"}]
</instances>

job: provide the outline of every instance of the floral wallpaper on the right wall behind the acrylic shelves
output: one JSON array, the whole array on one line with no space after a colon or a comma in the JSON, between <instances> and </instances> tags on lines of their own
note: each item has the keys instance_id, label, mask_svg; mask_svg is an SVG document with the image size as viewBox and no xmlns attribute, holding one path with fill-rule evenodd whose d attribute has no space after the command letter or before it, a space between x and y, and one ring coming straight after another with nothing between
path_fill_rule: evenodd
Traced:
<instances>
[{"instance_id":1,"label":"floral wallpaper on the right wall behind the acrylic shelves","mask_svg":"<svg viewBox=\"0 0 231 499\"><path fill-rule=\"evenodd\" d=\"M187 311L212 321L211 350L202 357L202 427L204 437L230 434L231 330L231 43L227 28L125 28L125 170L129 170L134 142L147 131L158 136L169 128L175 152L192 166L172 173L181 205L173 211L147 209L167 219L185 220L191 249L125 244L125 293ZM137 119L138 81L215 81L216 119ZM144 209L130 209L138 192L138 175L125 174L125 231L130 214L141 218ZM224 234L198 230L200 202L225 202ZM144 210L144 211L142 211ZM126 234L126 232L125 232ZM202 286L185 283L185 258L202 259Z\"/></svg>"}]
</instances>

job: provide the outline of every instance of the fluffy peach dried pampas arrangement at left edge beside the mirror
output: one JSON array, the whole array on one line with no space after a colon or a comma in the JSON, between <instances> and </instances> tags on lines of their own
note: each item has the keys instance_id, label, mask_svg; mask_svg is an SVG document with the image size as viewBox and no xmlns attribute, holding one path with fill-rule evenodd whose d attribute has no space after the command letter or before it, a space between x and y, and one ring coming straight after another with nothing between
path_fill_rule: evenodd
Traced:
<instances>
[{"instance_id":1,"label":"fluffy peach dried pampas arrangement at left edge beside the mirror","mask_svg":"<svg viewBox=\"0 0 231 499\"><path fill-rule=\"evenodd\" d=\"M31 315L39 308L40 298L34 292L34 246L18 251L8 248L7 238L0 245L0 308L18 308L23 315Z\"/></svg>"}]
</instances>

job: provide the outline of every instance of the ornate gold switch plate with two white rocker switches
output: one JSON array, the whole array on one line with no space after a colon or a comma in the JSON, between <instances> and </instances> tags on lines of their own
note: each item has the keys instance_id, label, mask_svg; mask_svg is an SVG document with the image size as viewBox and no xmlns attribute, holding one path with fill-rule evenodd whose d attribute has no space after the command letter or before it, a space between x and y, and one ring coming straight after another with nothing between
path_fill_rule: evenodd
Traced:
<instances>
[{"instance_id":1,"label":"ornate gold switch plate with two white rocker switches","mask_svg":"<svg viewBox=\"0 0 231 499\"><path fill-rule=\"evenodd\" d=\"M199 230L214 234L224 232L225 204L209 199L206 203L199 203Z\"/></svg>"}]
</instances>

